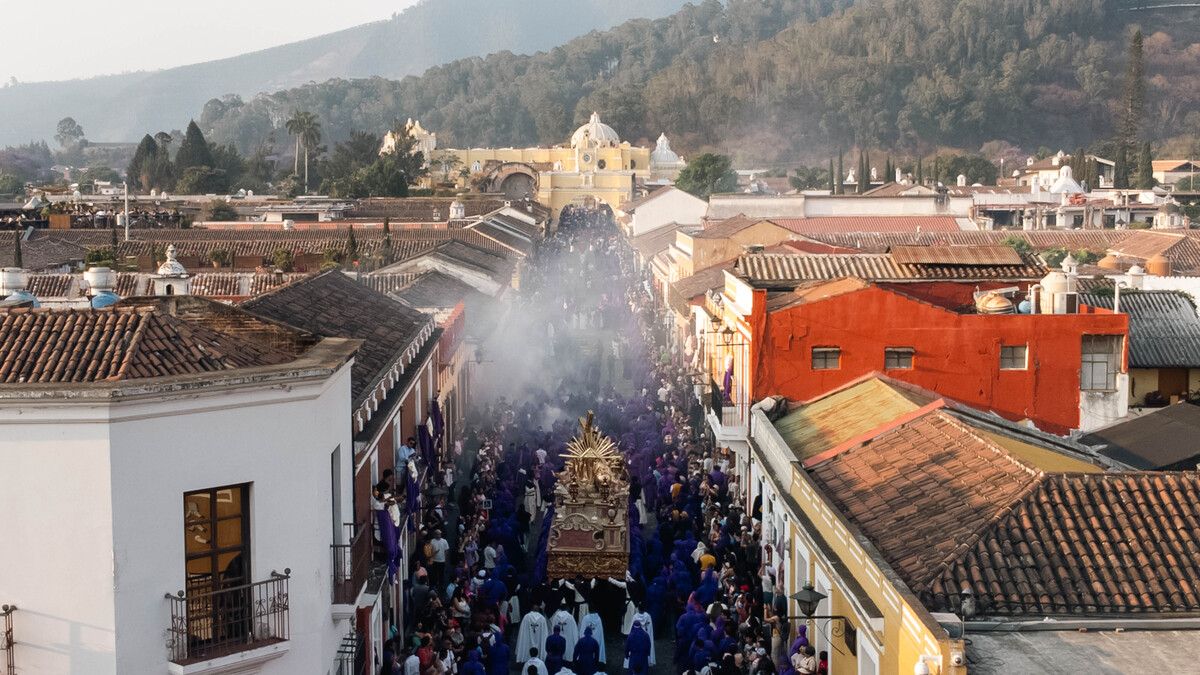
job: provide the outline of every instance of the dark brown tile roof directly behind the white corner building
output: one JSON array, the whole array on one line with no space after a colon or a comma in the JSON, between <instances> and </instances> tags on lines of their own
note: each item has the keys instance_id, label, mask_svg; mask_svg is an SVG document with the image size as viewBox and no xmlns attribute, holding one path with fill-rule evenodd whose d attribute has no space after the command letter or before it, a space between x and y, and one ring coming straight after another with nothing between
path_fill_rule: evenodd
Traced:
<instances>
[{"instance_id":1,"label":"dark brown tile roof directly behind the white corner building","mask_svg":"<svg viewBox=\"0 0 1200 675\"><path fill-rule=\"evenodd\" d=\"M358 283L338 270L293 281L242 309L328 338L364 340L354 359L352 390L360 402L367 386L412 344L426 323L421 312Z\"/></svg>"}]
</instances>

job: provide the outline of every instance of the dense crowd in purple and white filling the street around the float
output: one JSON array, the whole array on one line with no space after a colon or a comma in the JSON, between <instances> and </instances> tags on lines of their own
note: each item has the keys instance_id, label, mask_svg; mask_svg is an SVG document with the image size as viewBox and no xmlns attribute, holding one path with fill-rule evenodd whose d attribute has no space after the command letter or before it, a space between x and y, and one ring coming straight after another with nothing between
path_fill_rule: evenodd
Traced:
<instances>
[{"instance_id":1,"label":"dense crowd in purple and white filling the street around the float","mask_svg":"<svg viewBox=\"0 0 1200 675\"><path fill-rule=\"evenodd\" d=\"M805 627L792 631L761 502L703 432L689 354L667 347L607 209L563 211L515 311L546 338L541 372L478 407L438 472L448 495L407 561L408 629L388 640L382 673L827 671ZM629 569L548 579L548 508L588 411L625 455Z\"/></svg>"}]
</instances>

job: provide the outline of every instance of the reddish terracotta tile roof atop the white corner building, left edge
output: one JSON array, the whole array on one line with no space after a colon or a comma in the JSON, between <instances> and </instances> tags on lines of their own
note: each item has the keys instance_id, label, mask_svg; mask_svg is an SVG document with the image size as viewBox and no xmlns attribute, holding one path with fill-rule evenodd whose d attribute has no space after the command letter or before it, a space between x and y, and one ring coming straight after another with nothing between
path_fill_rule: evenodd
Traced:
<instances>
[{"instance_id":1,"label":"reddish terracotta tile roof atop the white corner building, left edge","mask_svg":"<svg viewBox=\"0 0 1200 675\"><path fill-rule=\"evenodd\" d=\"M293 358L140 307L0 310L0 383L5 384L217 372Z\"/></svg>"}]
</instances>

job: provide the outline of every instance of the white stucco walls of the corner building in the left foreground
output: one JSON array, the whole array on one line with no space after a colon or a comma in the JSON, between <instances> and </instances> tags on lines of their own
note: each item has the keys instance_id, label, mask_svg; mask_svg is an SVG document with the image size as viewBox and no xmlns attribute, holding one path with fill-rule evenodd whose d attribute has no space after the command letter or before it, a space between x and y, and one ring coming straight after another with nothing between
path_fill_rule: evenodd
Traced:
<instances>
[{"instance_id":1,"label":"white stucco walls of the corner building in the left foreground","mask_svg":"<svg viewBox=\"0 0 1200 675\"><path fill-rule=\"evenodd\" d=\"M184 494L251 483L252 580L292 569L288 651L258 673L325 674L344 633L329 546L335 522L350 520L349 372L112 406L0 406L0 508L17 514L0 527L11 540L16 522L29 543L0 546L0 579L22 579L2 598L20 608L20 671L167 673L163 596L185 587Z\"/></svg>"}]
</instances>

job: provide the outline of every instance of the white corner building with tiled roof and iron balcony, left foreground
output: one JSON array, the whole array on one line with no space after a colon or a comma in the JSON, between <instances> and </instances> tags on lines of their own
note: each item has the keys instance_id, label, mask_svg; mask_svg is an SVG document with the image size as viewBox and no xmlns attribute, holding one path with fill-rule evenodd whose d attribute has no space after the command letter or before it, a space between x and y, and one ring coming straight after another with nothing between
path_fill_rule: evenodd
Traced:
<instances>
[{"instance_id":1,"label":"white corner building with tiled roof and iron balcony, left foreground","mask_svg":"<svg viewBox=\"0 0 1200 675\"><path fill-rule=\"evenodd\" d=\"M358 344L194 297L0 310L17 673L338 671Z\"/></svg>"}]
</instances>

